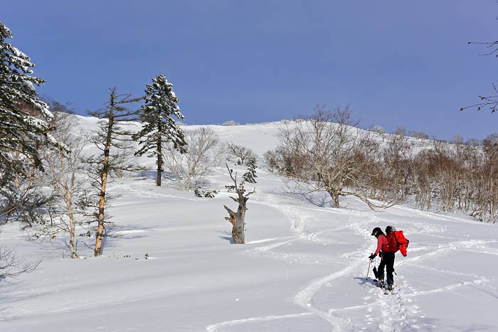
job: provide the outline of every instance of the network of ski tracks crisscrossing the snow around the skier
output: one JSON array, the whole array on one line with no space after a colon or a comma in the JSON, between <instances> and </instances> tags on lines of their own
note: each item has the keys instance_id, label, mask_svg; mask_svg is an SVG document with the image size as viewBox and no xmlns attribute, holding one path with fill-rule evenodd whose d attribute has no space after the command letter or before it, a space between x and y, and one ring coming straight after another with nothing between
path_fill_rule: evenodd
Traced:
<instances>
[{"instance_id":1,"label":"network of ski tracks crisscrossing the snow around the skier","mask_svg":"<svg viewBox=\"0 0 498 332\"><path fill-rule=\"evenodd\" d=\"M457 277L460 282L447 285L445 287L439 287L430 290L419 290L411 287L408 282L403 278L403 276L395 277L395 289L393 294L383 295L381 289L371 285L371 287L364 287L368 291L368 296L365 296L363 303L356 306L345 306L343 308L324 308L319 304L314 302L314 296L319 293L322 287L333 284L341 278L354 278L364 275L364 264L366 262L365 253L371 250L371 235L370 228L368 225L372 223L383 223L381 220L381 215L371 215L371 213L355 211L355 210L327 210L319 208L309 208L306 206L292 206L289 204L283 204L278 202L278 196L265 194L263 198L259 198L253 203L263 204L275 208L283 213L289 220L291 224L291 230L295 234L295 237L281 237L273 238L252 242L253 244L264 244L258 247L253 247L253 252L259 255L271 255L273 258L281 259L283 261L300 262L303 260L309 260L314 263L327 264L327 262L334 262L333 259L329 257L324 257L317 255L316 253L308 255L304 252L299 254L290 254L288 252L276 252L275 249L289 245L295 241L304 242L316 242L320 244L341 244L339 240L330 240L322 237L327 232L334 232L337 230L342 230L344 228L349 228L356 235L362 236L365 239L365 245L359 250L354 252L349 252L344 255L345 258L351 260L350 264L344 269L339 269L331 274L313 279L308 284L304 285L300 291L294 297L296 304L301 306L303 309L307 310L306 313L302 314L289 314L282 316L265 316L265 317L253 317L246 318L236 321L227 321L218 324L208 326L207 331L220 331L221 328L240 324L250 324L255 321L268 321L277 319L287 319L296 318L300 316L317 316L323 318L330 324L331 331L383 331L383 332L410 332L410 331L432 331L432 326L427 326L427 323L423 322L425 317L423 313L420 312L419 306L416 304L416 299L418 296L424 296L428 294L443 293L446 291L452 291L458 287L473 287L482 291L484 294L492 296L494 299L498 299L498 289L496 287L489 286L486 282L489 282L488 277L482 277L477 274L464 274L460 272L452 272L444 269L435 269L430 267L425 267L419 262L424 259L430 259L431 257L436 257L447 252L448 250L466 250L468 252L478 252L481 254L498 255L498 249L490 248L489 245L496 245L496 240L468 240L468 239L455 239L453 237L447 237L441 235L445 232L445 227L439 227L435 225L427 225L424 223L413 223L411 227L418 232L433 234L435 237L440 237L445 239L447 242L431 244L431 243L420 243L418 247L410 248L412 252L416 252L418 255L415 257L403 257L403 259L396 260L397 267L416 267L419 269L430 269L432 272L443 273L448 276ZM396 206L398 210L404 212L413 213L414 210L405 208L402 206ZM310 211L311 213L307 213ZM336 226L329 227L317 231L309 231L307 226L313 225L316 221L316 215L312 213L341 213L349 214L350 222L346 223L346 226ZM424 218L430 219L443 219L458 221L462 223L468 223L469 220L464 218L457 218L447 215L437 215L435 213L430 213L426 211L415 210L415 213L423 215ZM361 223L362 219L368 219L368 225ZM270 244L267 244L270 242ZM365 321L355 321L354 316L348 316L348 311L366 311Z\"/></svg>"}]
</instances>

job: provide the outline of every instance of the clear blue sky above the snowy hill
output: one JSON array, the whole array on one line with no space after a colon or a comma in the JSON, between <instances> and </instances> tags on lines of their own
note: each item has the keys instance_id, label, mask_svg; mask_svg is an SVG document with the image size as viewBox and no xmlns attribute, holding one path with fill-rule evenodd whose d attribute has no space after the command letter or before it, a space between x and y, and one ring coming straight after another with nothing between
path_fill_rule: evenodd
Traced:
<instances>
[{"instance_id":1,"label":"clear blue sky above the snowy hill","mask_svg":"<svg viewBox=\"0 0 498 332\"><path fill-rule=\"evenodd\" d=\"M294 119L350 105L362 127L482 139L492 95L494 0L2 0L0 20L36 63L38 88L79 114L110 87L173 83L187 124Z\"/></svg>"}]
</instances>

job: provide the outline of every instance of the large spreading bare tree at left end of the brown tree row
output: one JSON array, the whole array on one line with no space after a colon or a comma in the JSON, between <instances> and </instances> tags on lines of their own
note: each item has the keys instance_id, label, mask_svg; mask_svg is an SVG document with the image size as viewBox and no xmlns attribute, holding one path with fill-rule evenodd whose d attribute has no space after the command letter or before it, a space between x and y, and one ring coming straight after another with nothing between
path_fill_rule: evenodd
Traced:
<instances>
[{"instance_id":1,"label":"large spreading bare tree at left end of the brown tree row","mask_svg":"<svg viewBox=\"0 0 498 332\"><path fill-rule=\"evenodd\" d=\"M359 129L351 120L348 107L333 111L318 106L308 121L295 122L280 129L280 144L295 164L287 169L287 176L294 178L296 193L324 190L332 198L334 208L339 208L339 197L353 195L373 207L364 190L369 174L368 167L378 151L370 132Z\"/></svg>"}]
</instances>

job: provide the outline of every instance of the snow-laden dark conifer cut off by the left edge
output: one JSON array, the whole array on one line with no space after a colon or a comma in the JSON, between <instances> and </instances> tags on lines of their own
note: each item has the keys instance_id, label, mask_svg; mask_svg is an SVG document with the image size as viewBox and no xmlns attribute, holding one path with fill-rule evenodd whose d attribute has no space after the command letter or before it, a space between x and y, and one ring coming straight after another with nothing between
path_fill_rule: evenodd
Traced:
<instances>
[{"instance_id":1,"label":"snow-laden dark conifer cut off by the left edge","mask_svg":"<svg viewBox=\"0 0 498 332\"><path fill-rule=\"evenodd\" d=\"M47 141L47 120L51 118L48 105L38 98L34 87L44 81L30 75L35 65L7 43L6 39L12 38L9 28L0 22L0 186L13 173L26 173L38 160L36 145Z\"/></svg>"}]
</instances>

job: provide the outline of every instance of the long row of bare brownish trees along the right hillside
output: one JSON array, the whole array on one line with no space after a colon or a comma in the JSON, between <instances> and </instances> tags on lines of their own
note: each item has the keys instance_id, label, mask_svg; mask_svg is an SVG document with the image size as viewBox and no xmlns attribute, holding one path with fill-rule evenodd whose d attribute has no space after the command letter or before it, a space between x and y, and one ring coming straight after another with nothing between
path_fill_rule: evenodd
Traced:
<instances>
[{"instance_id":1,"label":"long row of bare brownish trees along the right hillside","mask_svg":"<svg viewBox=\"0 0 498 332\"><path fill-rule=\"evenodd\" d=\"M422 210L461 211L498 222L497 137L478 144L425 141L358 127L346 109L319 106L307 120L280 128L265 154L294 193L326 191L334 208L356 196L371 208L413 199ZM415 144L415 142L417 144Z\"/></svg>"}]
</instances>

